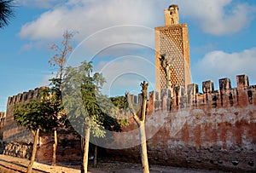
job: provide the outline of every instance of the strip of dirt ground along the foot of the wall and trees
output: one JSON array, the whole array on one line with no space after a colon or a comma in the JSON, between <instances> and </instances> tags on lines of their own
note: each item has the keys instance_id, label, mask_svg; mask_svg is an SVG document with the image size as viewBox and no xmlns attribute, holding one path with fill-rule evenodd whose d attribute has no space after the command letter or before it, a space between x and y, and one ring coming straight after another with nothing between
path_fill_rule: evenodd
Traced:
<instances>
[{"instance_id":1,"label":"strip of dirt ground along the foot of the wall and trees","mask_svg":"<svg viewBox=\"0 0 256 173\"><path fill-rule=\"evenodd\" d=\"M20 159L11 156L0 154L0 172L1 173L13 173L13 172L26 172L26 166L29 163L27 159ZM49 164L43 164L35 162L33 165L34 173L79 173L79 165L67 165L60 164L57 166L51 166ZM141 164L131 164L123 162L99 162L97 168L89 166L89 172L91 173L140 173ZM150 172L157 173L209 173L220 172L210 170L195 170L186 168L175 168L169 166L151 165Z\"/></svg>"}]
</instances>

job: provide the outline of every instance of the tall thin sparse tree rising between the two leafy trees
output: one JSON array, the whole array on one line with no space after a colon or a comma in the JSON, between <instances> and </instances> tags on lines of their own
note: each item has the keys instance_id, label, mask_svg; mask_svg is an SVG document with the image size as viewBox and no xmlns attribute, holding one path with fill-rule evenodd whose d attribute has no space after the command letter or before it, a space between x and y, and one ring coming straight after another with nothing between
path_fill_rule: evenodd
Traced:
<instances>
[{"instance_id":1,"label":"tall thin sparse tree rising between the two leafy trees","mask_svg":"<svg viewBox=\"0 0 256 173\"><path fill-rule=\"evenodd\" d=\"M62 89L62 78L64 75L64 66L67 62L67 56L70 55L70 53L73 50L73 47L71 45L71 40L73 37L73 32L64 32L63 33L63 40L61 41L61 46L57 45L56 43L52 43L50 46L50 49L55 50L55 55L49 59L49 65L51 67L56 66L57 72L56 77L51 78L51 89L50 89L50 101L51 106L54 108L54 118L56 122L61 122L61 120L65 120L63 118L66 118L65 111L62 106L62 100L61 100L61 89ZM58 145L58 138L57 138L57 126L54 128L54 135L55 135L55 142L53 144L53 155L52 155L52 165L56 165L56 150Z\"/></svg>"}]
</instances>

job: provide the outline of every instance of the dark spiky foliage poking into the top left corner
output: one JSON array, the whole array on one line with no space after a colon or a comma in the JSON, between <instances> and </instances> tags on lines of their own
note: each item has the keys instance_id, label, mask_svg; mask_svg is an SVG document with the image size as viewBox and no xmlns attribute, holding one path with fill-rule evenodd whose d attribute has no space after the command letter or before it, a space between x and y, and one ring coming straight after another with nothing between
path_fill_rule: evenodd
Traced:
<instances>
[{"instance_id":1,"label":"dark spiky foliage poking into the top left corner","mask_svg":"<svg viewBox=\"0 0 256 173\"><path fill-rule=\"evenodd\" d=\"M9 19L14 16L13 0L0 0L0 27L8 26Z\"/></svg>"}]
</instances>

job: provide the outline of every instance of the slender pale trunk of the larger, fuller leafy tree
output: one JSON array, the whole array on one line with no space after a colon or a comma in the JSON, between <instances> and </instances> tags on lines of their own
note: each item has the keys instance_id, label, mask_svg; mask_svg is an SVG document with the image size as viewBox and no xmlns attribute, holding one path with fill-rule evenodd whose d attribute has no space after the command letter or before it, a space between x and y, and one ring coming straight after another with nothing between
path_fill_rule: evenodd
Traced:
<instances>
[{"instance_id":1,"label":"slender pale trunk of the larger, fuller leafy tree","mask_svg":"<svg viewBox=\"0 0 256 173\"><path fill-rule=\"evenodd\" d=\"M90 140L90 127L89 127L89 125L86 125L85 136L84 136L84 139L82 137L82 140L84 142L82 144L83 155L82 155L82 163L81 163L81 173L87 173L88 153L89 153L89 140Z\"/></svg>"}]
</instances>

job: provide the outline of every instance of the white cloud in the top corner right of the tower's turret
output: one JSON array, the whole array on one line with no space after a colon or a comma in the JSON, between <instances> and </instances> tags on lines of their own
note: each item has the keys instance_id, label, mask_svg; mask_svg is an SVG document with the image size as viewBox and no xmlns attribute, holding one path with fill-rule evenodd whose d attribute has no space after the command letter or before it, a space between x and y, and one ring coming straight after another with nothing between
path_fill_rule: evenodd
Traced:
<instances>
[{"instance_id":1,"label":"white cloud in the top corner right of the tower's turret","mask_svg":"<svg viewBox=\"0 0 256 173\"><path fill-rule=\"evenodd\" d=\"M232 0L178 0L183 16L198 23L203 32L227 35L247 27L255 13L255 7L247 3L232 3Z\"/></svg>"}]
</instances>

